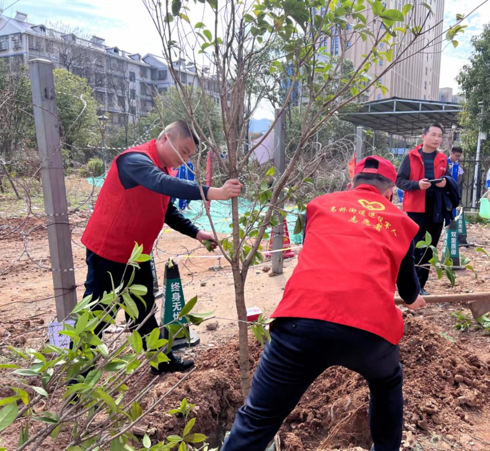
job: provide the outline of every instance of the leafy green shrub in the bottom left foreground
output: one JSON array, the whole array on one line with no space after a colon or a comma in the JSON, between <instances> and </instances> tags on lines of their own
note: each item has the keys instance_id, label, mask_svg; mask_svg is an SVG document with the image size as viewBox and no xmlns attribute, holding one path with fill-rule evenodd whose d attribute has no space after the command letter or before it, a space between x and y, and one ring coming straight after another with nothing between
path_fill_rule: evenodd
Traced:
<instances>
[{"instance_id":1,"label":"leafy green shrub in the bottom left foreground","mask_svg":"<svg viewBox=\"0 0 490 451\"><path fill-rule=\"evenodd\" d=\"M205 440L204 435L192 433L196 419L187 421L187 418L194 406L188 405L186 400L177 409L186 420L181 436L170 436L152 445L145 435L142 448L140 439L131 432L172 390L143 410L141 400L156 378L143 390L134 392L129 387L142 377L148 364L156 367L169 360L166 353L172 349L173 338L188 336L182 324L184 318L194 324L211 315L190 313L196 305L196 297L181 310L178 324L165 325L169 330L168 340L160 338L158 328L142 336L138 332L140 326L127 339L122 331L103 342L95 333L101 322L114 324L119 308L130 316L128 326L131 327L140 314L132 298L145 303L142 296L147 293L146 286L133 284L134 274L139 263L149 259L149 255L143 254L143 246L136 244L126 266L128 273L132 271L128 283L113 284L113 290L104 293L100 300L88 296L75 306L71 313L76 319L75 325L65 324L60 332L70 337L71 349L52 344L37 350L7 346L13 359L0 368L11 370L7 377L12 393L0 399L0 432L10 433L9 427L14 424L16 430L20 429L18 446L10 451L36 450L49 437L54 449L67 451L100 451L109 447L111 451L187 451L191 449L188 444ZM92 309L96 305L97 308ZM143 322L145 320L147 318ZM183 375L182 380L192 373ZM65 432L63 444L56 443L60 432ZM204 445L202 443L201 447ZM6 449L0 446L0 451Z\"/></svg>"}]
</instances>

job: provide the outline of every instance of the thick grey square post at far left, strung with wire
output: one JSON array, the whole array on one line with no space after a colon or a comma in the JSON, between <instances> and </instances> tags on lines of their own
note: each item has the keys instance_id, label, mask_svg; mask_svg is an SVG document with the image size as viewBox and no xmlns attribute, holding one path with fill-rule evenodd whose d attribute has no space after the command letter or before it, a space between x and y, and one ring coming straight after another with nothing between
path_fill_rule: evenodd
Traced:
<instances>
[{"instance_id":1,"label":"thick grey square post at far left, strung with wire","mask_svg":"<svg viewBox=\"0 0 490 451\"><path fill-rule=\"evenodd\" d=\"M53 64L29 61L32 103L48 223L49 255L53 273L58 321L65 320L76 305L75 273L65 175L61 156L59 123L54 95Z\"/></svg>"}]
</instances>

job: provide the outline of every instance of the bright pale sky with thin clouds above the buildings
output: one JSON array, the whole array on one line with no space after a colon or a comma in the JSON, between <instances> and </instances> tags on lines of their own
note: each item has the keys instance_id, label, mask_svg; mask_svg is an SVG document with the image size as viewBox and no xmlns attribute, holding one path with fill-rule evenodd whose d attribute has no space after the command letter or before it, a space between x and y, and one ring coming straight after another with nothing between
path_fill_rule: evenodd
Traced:
<instances>
[{"instance_id":1,"label":"bright pale sky with thin clouds above the buildings","mask_svg":"<svg viewBox=\"0 0 490 451\"><path fill-rule=\"evenodd\" d=\"M455 77L471 53L471 36L479 34L483 24L489 21L490 1L445 0L444 3L445 27L454 23L457 13L467 15L484 3L466 20L468 28L458 38L459 46L454 49L449 45L442 53L440 87L449 86L457 91ZM202 20L199 5L197 2L188 14L193 24ZM159 35L142 0L0 0L0 6L5 8L7 17L15 16L15 11L20 10L28 14L31 23L63 22L103 37L108 45L117 45L128 52L161 54Z\"/></svg>"}]
</instances>

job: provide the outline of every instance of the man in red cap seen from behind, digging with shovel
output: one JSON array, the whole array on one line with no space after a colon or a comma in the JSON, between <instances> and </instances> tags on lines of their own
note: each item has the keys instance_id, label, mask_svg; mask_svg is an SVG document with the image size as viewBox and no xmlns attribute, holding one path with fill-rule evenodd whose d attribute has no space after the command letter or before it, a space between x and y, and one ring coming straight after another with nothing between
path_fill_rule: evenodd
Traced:
<instances>
[{"instance_id":1,"label":"man in red cap seen from behind, digging with shovel","mask_svg":"<svg viewBox=\"0 0 490 451\"><path fill-rule=\"evenodd\" d=\"M418 227L392 202L396 171L381 157L354 170L353 189L307 206L303 249L272 314L245 406L221 451L264 451L310 384L330 366L361 374L370 390L375 451L399 451L403 424L398 342L419 295L413 238Z\"/></svg>"}]
</instances>

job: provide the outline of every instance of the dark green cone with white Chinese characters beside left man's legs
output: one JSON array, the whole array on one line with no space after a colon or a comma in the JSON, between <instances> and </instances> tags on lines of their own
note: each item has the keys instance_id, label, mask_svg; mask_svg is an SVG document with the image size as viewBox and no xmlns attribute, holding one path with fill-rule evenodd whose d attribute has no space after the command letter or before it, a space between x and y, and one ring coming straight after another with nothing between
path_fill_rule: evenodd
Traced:
<instances>
[{"instance_id":1,"label":"dark green cone with white Chinese characters beside left man's legs","mask_svg":"<svg viewBox=\"0 0 490 451\"><path fill-rule=\"evenodd\" d=\"M160 324L164 326L174 322L179 317L180 311L184 306L184 291L182 290L179 267L171 259L165 263ZM187 322L185 319L179 321L181 323Z\"/></svg>"}]
</instances>

